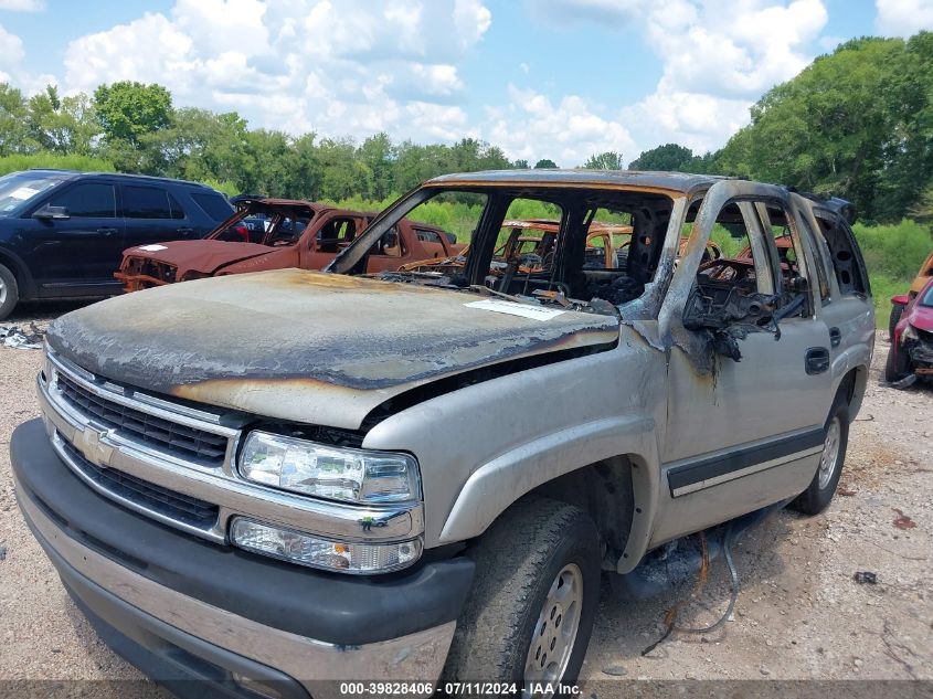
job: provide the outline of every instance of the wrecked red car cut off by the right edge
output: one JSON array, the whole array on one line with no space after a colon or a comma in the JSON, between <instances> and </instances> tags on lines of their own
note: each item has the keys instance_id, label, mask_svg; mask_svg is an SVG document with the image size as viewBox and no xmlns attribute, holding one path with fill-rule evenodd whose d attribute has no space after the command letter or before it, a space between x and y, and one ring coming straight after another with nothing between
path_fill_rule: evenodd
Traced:
<instances>
[{"instance_id":1,"label":"wrecked red car cut off by the right edge","mask_svg":"<svg viewBox=\"0 0 933 699\"><path fill-rule=\"evenodd\" d=\"M933 278L908 303L894 326L884 379L902 384L933 379Z\"/></svg>"}]
</instances>

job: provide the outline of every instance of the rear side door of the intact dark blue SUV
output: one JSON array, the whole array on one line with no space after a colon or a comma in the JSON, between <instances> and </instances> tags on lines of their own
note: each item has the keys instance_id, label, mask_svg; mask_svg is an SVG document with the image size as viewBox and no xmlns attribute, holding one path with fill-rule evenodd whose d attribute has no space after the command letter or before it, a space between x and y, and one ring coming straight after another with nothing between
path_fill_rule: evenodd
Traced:
<instances>
[{"instance_id":1,"label":"rear side door of the intact dark blue SUV","mask_svg":"<svg viewBox=\"0 0 933 699\"><path fill-rule=\"evenodd\" d=\"M126 247L197 237L178 199L159 184L120 186Z\"/></svg>"}]
</instances>

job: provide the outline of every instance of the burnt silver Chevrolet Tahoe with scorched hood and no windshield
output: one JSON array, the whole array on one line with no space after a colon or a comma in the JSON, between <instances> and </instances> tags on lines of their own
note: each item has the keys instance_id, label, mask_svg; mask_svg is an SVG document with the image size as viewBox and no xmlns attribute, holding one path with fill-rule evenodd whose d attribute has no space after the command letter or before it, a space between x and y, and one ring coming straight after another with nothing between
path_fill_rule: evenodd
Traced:
<instances>
[{"instance_id":1,"label":"burnt silver Chevrolet Tahoe with scorched hood and no windshield","mask_svg":"<svg viewBox=\"0 0 933 699\"><path fill-rule=\"evenodd\" d=\"M367 274L436 201L471 212L469 247ZM494 264L529 202L559 231ZM874 335L845 213L710 176L430 180L324 272L55 321L42 420L10 445L20 507L98 634L162 680L570 682L601 576L829 504ZM632 226L625 255L587 254L597 222Z\"/></svg>"}]
</instances>

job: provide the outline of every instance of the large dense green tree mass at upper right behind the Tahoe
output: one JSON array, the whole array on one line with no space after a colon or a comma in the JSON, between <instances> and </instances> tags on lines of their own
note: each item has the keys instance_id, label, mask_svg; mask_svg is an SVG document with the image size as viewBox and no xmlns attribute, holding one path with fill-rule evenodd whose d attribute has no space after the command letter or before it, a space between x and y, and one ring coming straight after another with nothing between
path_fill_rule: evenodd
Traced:
<instances>
[{"instance_id":1,"label":"large dense green tree mass at upper right behind the Tahoe","mask_svg":"<svg viewBox=\"0 0 933 699\"><path fill-rule=\"evenodd\" d=\"M898 220L933 177L933 34L858 39L752 107L722 171L835 193Z\"/></svg>"}]
</instances>

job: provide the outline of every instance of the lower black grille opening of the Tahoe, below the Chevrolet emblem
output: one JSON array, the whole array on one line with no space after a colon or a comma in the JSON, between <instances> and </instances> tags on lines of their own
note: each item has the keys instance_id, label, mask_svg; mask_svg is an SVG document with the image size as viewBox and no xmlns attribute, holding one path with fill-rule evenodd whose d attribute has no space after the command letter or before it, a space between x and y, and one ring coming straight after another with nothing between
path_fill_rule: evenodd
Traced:
<instances>
[{"instance_id":1,"label":"lower black grille opening of the Tahoe, below the Chevrolet emblem","mask_svg":"<svg viewBox=\"0 0 933 699\"><path fill-rule=\"evenodd\" d=\"M199 529L210 529L218 521L220 508L216 505L162 488L113 468L95 466L71 443L63 439L61 445L72 464L81 469L85 477L118 498L130 500L162 517Z\"/></svg>"}]
</instances>

